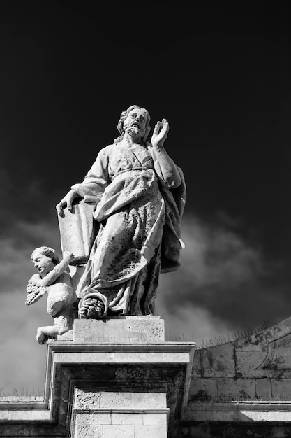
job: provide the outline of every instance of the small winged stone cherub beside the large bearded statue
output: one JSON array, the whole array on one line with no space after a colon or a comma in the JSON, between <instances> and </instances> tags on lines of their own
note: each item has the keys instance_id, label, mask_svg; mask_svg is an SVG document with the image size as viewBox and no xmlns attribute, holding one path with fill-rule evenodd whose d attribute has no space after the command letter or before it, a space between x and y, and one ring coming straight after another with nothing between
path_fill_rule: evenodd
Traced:
<instances>
[{"instance_id":1,"label":"small winged stone cherub beside the large bearded statue","mask_svg":"<svg viewBox=\"0 0 291 438\"><path fill-rule=\"evenodd\" d=\"M29 280L25 304L36 303L47 292L47 313L54 319L54 325L38 327L36 340L39 344L45 344L48 337L64 334L73 327L72 304L77 297L67 271L73 259L73 253L67 251L60 262L55 250L48 246L40 246L31 254L38 274Z\"/></svg>"}]
</instances>

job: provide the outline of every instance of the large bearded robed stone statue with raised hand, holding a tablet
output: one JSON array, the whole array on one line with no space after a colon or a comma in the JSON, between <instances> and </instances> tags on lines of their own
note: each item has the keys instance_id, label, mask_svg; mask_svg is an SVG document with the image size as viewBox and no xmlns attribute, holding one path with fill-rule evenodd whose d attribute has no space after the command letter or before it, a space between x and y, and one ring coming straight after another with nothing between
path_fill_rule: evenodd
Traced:
<instances>
[{"instance_id":1,"label":"large bearded robed stone statue with raised hand, holding a tablet","mask_svg":"<svg viewBox=\"0 0 291 438\"><path fill-rule=\"evenodd\" d=\"M88 242L76 287L80 318L153 314L160 271L179 267L184 176L163 146L167 120L156 123L151 143L149 122L140 106L122 112L120 136L100 150L84 181L57 204L63 251L75 253ZM77 213L81 206L83 216ZM82 232L91 227L93 238L72 238L73 217L82 222Z\"/></svg>"}]
</instances>

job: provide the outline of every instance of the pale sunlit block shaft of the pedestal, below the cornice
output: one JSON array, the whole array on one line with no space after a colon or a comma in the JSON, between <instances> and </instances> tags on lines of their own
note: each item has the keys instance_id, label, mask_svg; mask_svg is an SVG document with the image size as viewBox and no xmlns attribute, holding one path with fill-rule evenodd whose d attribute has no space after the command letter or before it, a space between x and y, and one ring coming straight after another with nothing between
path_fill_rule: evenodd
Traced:
<instances>
[{"instance_id":1,"label":"pale sunlit block shaft of the pedestal, below the cornice","mask_svg":"<svg viewBox=\"0 0 291 438\"><path fill-rule=\"evenodd\" d=\"M167 437L165 393L76 388L74 412L74 438Z\"/></svg>"}]
</instances>

